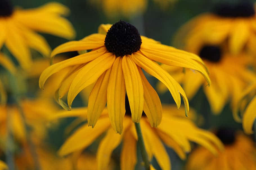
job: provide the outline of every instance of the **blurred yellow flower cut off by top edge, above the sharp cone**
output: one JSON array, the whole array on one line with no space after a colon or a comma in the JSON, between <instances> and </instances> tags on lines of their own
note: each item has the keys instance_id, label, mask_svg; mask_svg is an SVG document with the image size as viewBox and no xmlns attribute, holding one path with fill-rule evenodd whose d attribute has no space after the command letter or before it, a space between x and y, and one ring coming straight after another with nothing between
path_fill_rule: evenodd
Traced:
<instances>
[{"instance_id":1,"label":"blurred yellow flower cut off by top edge, above the sharp cone","mask_svg":"<svg viewBox=\"0 0 256 170\"><path fill-rule=\"evenodd\" d=\"M96 6L101 6L107 17L123 15L130 18L143 13L147 8L148 0L90 0Z\"/></svg>"}]
</instances>

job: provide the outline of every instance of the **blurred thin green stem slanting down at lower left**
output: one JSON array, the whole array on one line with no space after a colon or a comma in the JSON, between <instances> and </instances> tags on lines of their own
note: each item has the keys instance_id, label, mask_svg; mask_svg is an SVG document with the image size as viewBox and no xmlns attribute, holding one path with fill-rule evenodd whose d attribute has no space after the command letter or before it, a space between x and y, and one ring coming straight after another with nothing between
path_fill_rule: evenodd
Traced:
<instances>
[{"instance_id":1,"label":"blurred thin green stem slanting down at lower left","mask_svg":"<svg viewBox=\"0 0 256 170\"><path fill-rule=\"evenodd\" d=\"M17 103L19 113L20 113L21 118L22 118L23 123L24 123L24 128L25 128L25 132L26 132L26 140L28 142L28 146L29 146L31 155L32 155L33 161L35 163L35 169L36 170L41 170L39 158L38 158L38 155L37 155L37 152L36 152L36 147L35 147L35 145L32 141L32 138L31 138L31 129L30 129L29 125L26 122L26 118L25 118L22 106L19 103L19 100L17 100L16 103Z\"/></svg>"}]
</instances>

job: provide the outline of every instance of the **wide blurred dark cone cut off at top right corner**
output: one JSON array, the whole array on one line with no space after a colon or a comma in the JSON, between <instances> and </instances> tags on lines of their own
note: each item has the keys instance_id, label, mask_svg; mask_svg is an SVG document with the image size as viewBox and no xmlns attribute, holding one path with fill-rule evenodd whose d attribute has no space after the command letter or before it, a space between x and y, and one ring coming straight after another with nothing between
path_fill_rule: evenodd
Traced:
<instances>
[{"instance_id":1,"label":"wide blurred dark cone cut off at top right corner","mask_svg":"<svg viewBox=\"0 0 256 170\"><path fill-rule=\"evenodd\" d=\"M249 0L241 0L239 3L219 3L213 8L213 13L221 17L252 17L255 9Z\"/></svg>"}]
</instances>

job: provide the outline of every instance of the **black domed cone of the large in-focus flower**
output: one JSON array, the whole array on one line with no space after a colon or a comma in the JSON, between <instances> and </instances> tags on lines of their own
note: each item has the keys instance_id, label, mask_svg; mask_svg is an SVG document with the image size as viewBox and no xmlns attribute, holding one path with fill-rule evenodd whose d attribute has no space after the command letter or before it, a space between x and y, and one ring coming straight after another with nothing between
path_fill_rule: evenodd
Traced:
<instances>
[{"instance_id":1,"label":"black domed cone of the large in-focus flower","mask_svg":"<svg viewBox=\"0 0 256 170\"><path fill-rule=\"evenodd\" d=\"M140 50L141 43L137 28L125 21L113 24L105 38L105 47L116 57L131 55Z\"/></svg>"}]
</instances>

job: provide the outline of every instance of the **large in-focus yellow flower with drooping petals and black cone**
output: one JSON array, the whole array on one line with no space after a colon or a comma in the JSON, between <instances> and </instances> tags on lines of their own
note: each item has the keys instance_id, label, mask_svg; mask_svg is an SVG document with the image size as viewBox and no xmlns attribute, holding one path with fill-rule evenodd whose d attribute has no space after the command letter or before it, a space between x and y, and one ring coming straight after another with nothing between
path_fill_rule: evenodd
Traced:
<instances>
[{"instance_id":1,"label":"large in-focus yellow flower with drooping petals and black cone","mask_svg":"<svg viewBox=\"0 0 256 170\"><path fill-rule=\"evenodd\" d=\"M181 104L181 95L185 101L187 114L189 108L184 90L157 62L196 69L210 83L208 74L202 66L203 61L197 55L140 36L136 27L124 21L112 26L101 25L99 32L104 30L107 32L106 35L92 34L80 41L70 41L55 48L51 53L52 57L68 51L92 50L53 64L45 69L39 78L39 87L43 88L45 81L52 74L72 66L70 73L60 82L58 92L62 107L68 110L71 109L77 94L96 82L88 102L90 126L95 126L107 103L111 124L117 133L121 133L125 114L125 91L131 105L133 122L140 121L144 110L153 127L160 124L161 102L142 69L168 87L178 108ZM68 106L64 106L61 98L67 92Z\"/></svg>"}]
</instances>

